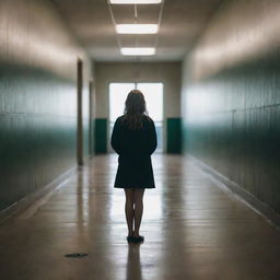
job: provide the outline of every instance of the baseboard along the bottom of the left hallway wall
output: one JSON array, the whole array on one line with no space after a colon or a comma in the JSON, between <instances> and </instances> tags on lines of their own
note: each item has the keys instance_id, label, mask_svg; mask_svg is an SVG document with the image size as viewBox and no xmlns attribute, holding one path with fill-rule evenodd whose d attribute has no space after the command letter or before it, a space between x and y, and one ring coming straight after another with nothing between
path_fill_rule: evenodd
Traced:
<instances>
[{"instance_id":1,"label":"baseboard along the bottom of the left hallway wall","mask_svg":"<svg viewBox=\"0 0 280 280\"><path fill-rule=\"evenodd\" d=\"M40 206L43 206L55 191L63 186L67 178L75 174L78 170L79 167L77 165L71 167L45 187L25 196L21 200L0 211L0 225L30 208L27 213L23 213L21 215L21 219L26 219L26 214L31 215L32 212L36 211Z\"/></svg>"}]
</instances>

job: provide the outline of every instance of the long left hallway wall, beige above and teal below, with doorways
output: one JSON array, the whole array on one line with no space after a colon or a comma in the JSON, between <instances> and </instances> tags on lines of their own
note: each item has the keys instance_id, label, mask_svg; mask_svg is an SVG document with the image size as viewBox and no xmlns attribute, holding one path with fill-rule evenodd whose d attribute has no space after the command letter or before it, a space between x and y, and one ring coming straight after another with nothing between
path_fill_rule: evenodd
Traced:
<instances>
[{"instance_id":1,"label":"long left hallway wall, beige above and teal below, with doorways","mask_svg":"<svg viewBox=\"0 0 280 280\"><path fill-rule=\"evenodd\" d=\"M78 55L84 61L84 139L89 133L90 61L51 1L2 0L0 19L3 210L77 164ZM88 155L89 141L84 141Z\"/></svg>"}]
</instances>

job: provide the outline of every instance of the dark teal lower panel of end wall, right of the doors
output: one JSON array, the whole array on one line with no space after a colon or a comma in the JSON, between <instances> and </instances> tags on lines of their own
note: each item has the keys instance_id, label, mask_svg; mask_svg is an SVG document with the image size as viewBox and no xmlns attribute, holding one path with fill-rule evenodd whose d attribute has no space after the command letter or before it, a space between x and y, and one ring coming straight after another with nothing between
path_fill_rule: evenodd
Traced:
<instances>
[{"instance_id":1,"label":"dark teal lower panel of end wall, right of the doors","mask_svg":"<svg viewBox=\"0 0 280 280\"><path fill-rule=\"evenodd\" d=\"M166 152L182 153L182 118L166 119Z\"/></svg>"}]
</instances>

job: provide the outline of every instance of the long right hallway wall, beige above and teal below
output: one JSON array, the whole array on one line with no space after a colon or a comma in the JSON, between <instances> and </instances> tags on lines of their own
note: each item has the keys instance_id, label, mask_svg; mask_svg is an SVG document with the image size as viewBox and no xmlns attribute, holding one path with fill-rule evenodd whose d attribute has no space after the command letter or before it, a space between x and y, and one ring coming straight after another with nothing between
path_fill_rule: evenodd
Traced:
<instances>
[{"instance_id":1,"label":"long right hallway wall, beige above and teal below","mask_svg":"<svg viewBox=\"0 0 280 280\"><path fill-rule=\"evenodd\" d=\"M183 112L185 151L280 213L277 2L222 2L186 59Z\"/></svg>"}]
</instances>

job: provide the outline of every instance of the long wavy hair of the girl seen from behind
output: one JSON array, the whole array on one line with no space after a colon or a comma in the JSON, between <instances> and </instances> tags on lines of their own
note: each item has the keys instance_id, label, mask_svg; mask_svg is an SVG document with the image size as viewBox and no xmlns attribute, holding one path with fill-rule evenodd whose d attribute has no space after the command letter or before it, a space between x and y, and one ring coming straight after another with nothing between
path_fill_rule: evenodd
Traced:
<instances>
[{"instance_id":1,"label":"long wavy hair of the girl seen from behind","mask_svg":"<svg viewBox=\"0 0 280 280\"><path fill-rule=\"evenodd\" d=\"M128 93L124 114L124 122L129 128L138 129L143 126L142 116L148 116L148 112L141 91L132 90Z\"/></svg>"}]
</instances>

